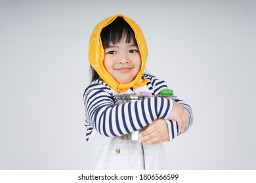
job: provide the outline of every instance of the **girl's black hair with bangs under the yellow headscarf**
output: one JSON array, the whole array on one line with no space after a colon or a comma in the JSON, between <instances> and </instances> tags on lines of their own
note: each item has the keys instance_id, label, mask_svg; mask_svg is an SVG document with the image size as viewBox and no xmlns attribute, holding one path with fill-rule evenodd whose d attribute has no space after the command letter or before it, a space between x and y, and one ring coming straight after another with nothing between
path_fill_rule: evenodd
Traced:
<instances>
[{"instance_id":1,"label":"girl's black hair with bangs under the yellow headscarf","mask_svg":"<svg viewBox=\"0 0 256 183\"><path fill-rule=\"evenodd\" d=\"M100 33L100 38L104 49L110 46L110 42L116 44L117 42L120 42L123 37L126 37L125 42L130 43L134 41L135 45L137 45L133 29L121 16L118 16L111 24L104 27ZM96 79L100 79L100 76L98 73L96 73L95 69L93 69L91 66L90 69L91 82Z\"/></svg>"}]
</instances>

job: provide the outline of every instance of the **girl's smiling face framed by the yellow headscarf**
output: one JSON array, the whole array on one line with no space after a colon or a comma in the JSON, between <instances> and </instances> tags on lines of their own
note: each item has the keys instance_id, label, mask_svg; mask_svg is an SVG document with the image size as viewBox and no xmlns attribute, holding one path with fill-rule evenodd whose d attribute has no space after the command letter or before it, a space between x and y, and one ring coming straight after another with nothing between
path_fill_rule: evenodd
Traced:
<instances>
[{"instance_id":1,"label":"girl's smiling face framed by the yellow headscarf","mask_svg":"<svg viewBox=\"0 0 256 183\"><path fill-rule=\"evenodd\" d=\"M105 58L103 65L110 75L119 84L129 84L140 71L140 53L134 42L125 42L126 37L120 42L104 49Z\"/></svg>"}]
</instances>

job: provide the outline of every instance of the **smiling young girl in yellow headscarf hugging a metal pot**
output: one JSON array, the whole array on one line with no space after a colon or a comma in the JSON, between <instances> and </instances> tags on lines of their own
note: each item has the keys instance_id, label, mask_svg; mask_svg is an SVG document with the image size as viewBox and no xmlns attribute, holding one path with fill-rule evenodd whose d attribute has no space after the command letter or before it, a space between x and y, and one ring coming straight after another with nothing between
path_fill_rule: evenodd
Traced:
<instances>
[{"instance_id":1,"label":"smiling young girl in yellow headscarf hugging a metal pot","mask_svg":"<svg viewBox=\"0 0 256 183\"><path fill-rule=\"evenodd\" d=\"M115 105L114 95L167 88L144 73L147 46L140 27L124 15L102 20L90 38L92 81L83 95L91 169L166 169L163 142L192 125L192 110L181 100L149 97ZM139 141L116 137L148 125Z\"/></svg>"}]
</instances>

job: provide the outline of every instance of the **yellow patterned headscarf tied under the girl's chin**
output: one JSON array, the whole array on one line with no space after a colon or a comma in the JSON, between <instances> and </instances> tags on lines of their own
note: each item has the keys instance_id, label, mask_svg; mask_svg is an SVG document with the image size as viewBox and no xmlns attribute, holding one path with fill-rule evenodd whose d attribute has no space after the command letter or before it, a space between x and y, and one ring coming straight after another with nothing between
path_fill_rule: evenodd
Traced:
<instances>
[{"instance_id":1,"label":"yellow patterned headscarf tied under the girl's chin","mask_svg":"<svg viewBox=\"0 0 256 183\"><path fill-rule=\"evenodd\" d=\"M131 26L133 31L135 32L135 39L138 44L140 58L141 58L141 66L140 71L136 78L130 82L129 84L119 84L105 69L103 65L104 60L104 48L102 46L102 41L100 39L100 33L104 27L112 23L118 16L123 17L123 19ZM140 86L145 85L148 82L148 79L142 80L141 76L144 72L144 68L146 65L146 57L148 56L148 48L146 46L146 40L144 35L139 27L133 20L127 18L122 14L117 14L106 18L99 22L95 29L93 29L93 33L90 37L90 44L89 44L89 62L93 69L98 73L100 78L108 84L111 88L118 92L125 92L129 90L129 88L138 88Z\"/></svg>"}]
</instances>

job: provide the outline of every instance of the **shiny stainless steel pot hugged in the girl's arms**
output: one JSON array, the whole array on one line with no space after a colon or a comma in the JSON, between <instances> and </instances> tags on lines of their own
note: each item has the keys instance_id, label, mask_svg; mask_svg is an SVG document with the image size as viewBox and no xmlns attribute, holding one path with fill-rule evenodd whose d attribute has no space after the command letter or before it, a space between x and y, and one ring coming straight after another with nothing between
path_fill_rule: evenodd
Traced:
<instances>
[{"instance_id":1,"label":"shiny stainless steel pot hugged in the girl's arms","mask_svg":"<svg viewBox=\"0 0 256 183\"><path fill-rule=\"evenodd\" d=\"M177 99L177 96L171 95L171 96L158 96L158 95L149 95L149 96L144 96L144 95L114 95L115 99L115 105L120 105L123 103L128 103L128 102L134 102L134 101L139 101L143 99L147 99L149 97L165 97L169 99ZM134 131L133 133L128 133L126 135L122 135L119 137L116 137L117 139L122 139L122 140L129 140L129 141L138 141L139 140L139 133L141 131L144 131L146 127L143 127L142 129L138 131Z\"/></svg>"}]
</instances>

